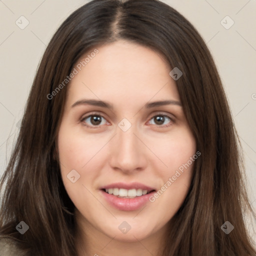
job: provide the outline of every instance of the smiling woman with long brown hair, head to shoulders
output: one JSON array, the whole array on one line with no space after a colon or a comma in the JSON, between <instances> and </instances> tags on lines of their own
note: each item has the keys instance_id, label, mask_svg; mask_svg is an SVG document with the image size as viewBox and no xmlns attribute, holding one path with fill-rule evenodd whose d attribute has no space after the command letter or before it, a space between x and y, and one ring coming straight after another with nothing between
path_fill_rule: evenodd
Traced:
<instances>
[{"instance_id":1,"label":"smiling woman with long brown hair, head to shoulders","mask_svg":"<svg viewBox=\"0 0 256 256\"><path fill-rule=\"evenodd\" d=\"M1 253L256 255L241 177L195 28L160 1L93 0L37 70L1 179Z\"/></svg>"}]
</instances>

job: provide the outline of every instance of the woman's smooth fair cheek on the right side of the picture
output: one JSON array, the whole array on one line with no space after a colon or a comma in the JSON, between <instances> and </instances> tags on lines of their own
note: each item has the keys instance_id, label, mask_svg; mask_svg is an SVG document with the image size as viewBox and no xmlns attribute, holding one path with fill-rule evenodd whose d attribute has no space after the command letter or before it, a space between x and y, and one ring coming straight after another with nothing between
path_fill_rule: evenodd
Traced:
<instances>
[{"instance_id":1,"label":"woman's smooth fair cheek on the right side of the picture","mask_svg":"<svg viewBox=\"0 0 256 256\"><path fill-rule=\"evenodd\" d=\"M197 159L195 139L185 128L173 133L168 140L158 145L159 155L165 167L158 168L162 186L151 198L159 210L172 216L183 203L191 182L194 162Z\"/></svg>"}]
</instances>

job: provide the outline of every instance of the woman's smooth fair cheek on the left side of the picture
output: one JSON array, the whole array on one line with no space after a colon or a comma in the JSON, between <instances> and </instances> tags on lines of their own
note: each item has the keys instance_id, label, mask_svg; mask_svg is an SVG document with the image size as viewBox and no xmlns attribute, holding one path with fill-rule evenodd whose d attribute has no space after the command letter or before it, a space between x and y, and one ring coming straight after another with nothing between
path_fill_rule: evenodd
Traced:
<instances>
[{"instance_id":1,"label":"woman's smooth fair cheek on the left side of the picture","mask_svg":"<svg viewBox=\"0 0 256 256\"><path fill-rule=\"evenodd\" d=\"M104 150L101 149L108 140L106 136L88 135L82 128L75 129L65 123L60 126L58 155L61 176L65 189L76 206L83 205L85 201L95 201L89 191L94 189L95 180L103 170L106 159ZM73 176L75 182L70 180ZM77 180L76 176L79 177Z\"/></svg>"}]
</instances>

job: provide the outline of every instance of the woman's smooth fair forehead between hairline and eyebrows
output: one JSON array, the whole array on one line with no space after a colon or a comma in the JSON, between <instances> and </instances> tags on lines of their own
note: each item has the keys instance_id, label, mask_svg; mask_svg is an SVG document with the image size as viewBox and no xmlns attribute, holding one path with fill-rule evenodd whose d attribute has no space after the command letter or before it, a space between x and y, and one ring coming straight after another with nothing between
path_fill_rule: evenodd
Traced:
<instances>
[{"instance_id":1,"label":"woman's smooth fair forehead between hairline and eyebrows","mask_svg":"<svg viewBox=\"0 0 256 256\"><path fill-rule=\"evenodd\" d=\"M124 40L95 48L74 65L77 74L68 85L69 103L81 97L114 102L168 96L179 100L176 84L169 75L171 68L158 52Z\"/></svg>"}]
</instances>

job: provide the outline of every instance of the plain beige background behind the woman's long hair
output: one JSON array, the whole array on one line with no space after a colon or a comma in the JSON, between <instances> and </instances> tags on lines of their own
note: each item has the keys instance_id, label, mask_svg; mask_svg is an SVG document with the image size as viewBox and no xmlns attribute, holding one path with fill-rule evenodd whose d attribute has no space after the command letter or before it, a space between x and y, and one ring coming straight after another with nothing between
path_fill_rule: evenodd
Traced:
<instances>
[{"instance_id":1,"label":"plain beige background behind the woman's long hair","mask_svg":"<svg viewBox=\"0 0 256 256\"><path fill-rule=\"evenodd\" d=\"M250 203L256 208L256 0L163 1L198 29L215 59L244 150ZM0 0L0 175L45 46L64 19L86 2ZM29 22L24 29L15 23L21 25L21 15Z\"/></svg>"}]
</instances>

